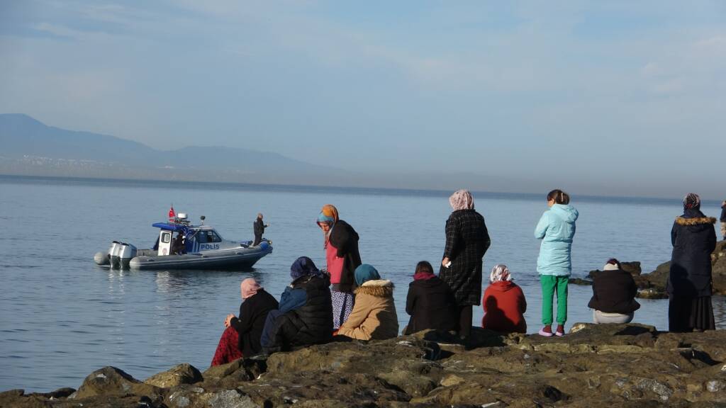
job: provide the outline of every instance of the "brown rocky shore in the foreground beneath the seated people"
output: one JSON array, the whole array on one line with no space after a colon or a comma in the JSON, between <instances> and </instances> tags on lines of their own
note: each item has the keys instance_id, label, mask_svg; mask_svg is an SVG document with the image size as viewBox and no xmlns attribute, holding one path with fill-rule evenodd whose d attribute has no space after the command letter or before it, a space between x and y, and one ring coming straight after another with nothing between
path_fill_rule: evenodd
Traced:
<instances>
[{"instance_id":1,"label":"brown rocky shore in the foreground beneath the seated people","mask_svg":"<svg viewBox=\"0 0 726 408\"><path fill-rule=\"evenodd\" d=\"M115 367L0 407L726 407L726 330L576 324L563 338L476 329L330 343L144 381Z\"/></svg>"}]
</instances>

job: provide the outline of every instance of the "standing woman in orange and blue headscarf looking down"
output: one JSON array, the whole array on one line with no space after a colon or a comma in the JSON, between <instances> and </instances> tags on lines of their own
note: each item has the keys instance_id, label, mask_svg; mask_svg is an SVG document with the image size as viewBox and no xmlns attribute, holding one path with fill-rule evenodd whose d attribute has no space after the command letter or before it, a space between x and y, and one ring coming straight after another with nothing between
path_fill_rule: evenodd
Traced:
<instances>
[{"instance_id":1,"label":"standing woman in orange and blue headscarf looking down","mask_svg":"<svg viewBox=\"0 0 726 408\"><path fill-rule=\"evenodd\" d=\"M333 328L338 329L353 310L354 271L361 264L358 233L350 224L338 218L338 208L331 204L323 205L317 224L325 238L325 260L332 285Z\"/></svg>"}]
</instances>

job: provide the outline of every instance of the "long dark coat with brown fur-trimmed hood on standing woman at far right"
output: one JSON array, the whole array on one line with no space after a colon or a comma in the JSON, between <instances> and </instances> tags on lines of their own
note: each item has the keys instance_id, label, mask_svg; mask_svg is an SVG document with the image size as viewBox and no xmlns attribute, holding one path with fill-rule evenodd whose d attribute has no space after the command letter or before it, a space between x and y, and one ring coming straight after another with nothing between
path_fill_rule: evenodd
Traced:
<instances>
[{"instance_id":1,"label":"long dark coat with brown fur-trimmed hood on standing woman at far right","mask_svg":"<svg viewBox=\"0 0 726 408\"><path fill-rule=\"evenodd\" d=\"M666 290L676 298L711 295L711 253L716 249L716 219L686 210L671 229L673 253Z\"/></svg>"}]
</instances>

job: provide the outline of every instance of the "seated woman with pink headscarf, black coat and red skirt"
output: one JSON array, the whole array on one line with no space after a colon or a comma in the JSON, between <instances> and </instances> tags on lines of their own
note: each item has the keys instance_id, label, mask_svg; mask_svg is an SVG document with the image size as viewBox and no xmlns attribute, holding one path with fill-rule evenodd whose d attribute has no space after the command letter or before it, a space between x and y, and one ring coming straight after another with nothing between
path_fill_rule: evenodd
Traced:
<instances>
[{"instance_id":1,"label":"seated woman with pink headscarf, black coat and red skirt","mask_svg":"<svg viewBox=\"0 0 726 408\"><path fill-rule=\"evenodd\" d=\"M277 310L277 301L251 277L242 281L240 293L240 317L228 314L224 319L224 327L227 329L219 339L219 346L212 359L213 366L227 364L242 356L255 356L262 351L262 330L267 314Z\"/></svg>"}]
</instances>

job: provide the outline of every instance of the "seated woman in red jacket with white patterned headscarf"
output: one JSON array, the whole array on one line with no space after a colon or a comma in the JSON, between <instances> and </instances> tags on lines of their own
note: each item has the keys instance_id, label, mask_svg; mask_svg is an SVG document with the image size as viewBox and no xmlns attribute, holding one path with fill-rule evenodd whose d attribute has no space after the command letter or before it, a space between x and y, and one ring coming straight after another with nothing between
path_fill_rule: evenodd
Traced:
<instances>
[{"instance_id":1,"label":"seated woman in red jacket with white patterned headscarf","mask_svg":"<svg viewBox=\"0 0 726 408\"><path fill-rule=\"evenodd\" d=\"M481 301L484 306L481 327L504 333L527 332L527 322L524 320L527 301L522 288L512 282L507 266L494 266L489 282L492 283L484 291Z\"/></svg>"}]
</instances>

